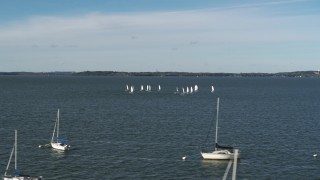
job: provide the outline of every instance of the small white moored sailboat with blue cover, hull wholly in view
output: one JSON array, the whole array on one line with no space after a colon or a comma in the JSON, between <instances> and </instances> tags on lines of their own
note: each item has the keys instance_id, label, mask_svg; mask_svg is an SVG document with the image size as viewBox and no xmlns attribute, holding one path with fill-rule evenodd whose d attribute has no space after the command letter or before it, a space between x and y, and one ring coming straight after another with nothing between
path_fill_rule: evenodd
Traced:
<instances>
[{"instance_id":1,"label":"small white moored sailboat with blue cover, hull wholly in view","mask_svg":"<svg viewBox=\"0 0 320 180\"><path fill-rule=\"evenodd\" d=\"M70 149L70 145L65 143L64 139L59 139L59 122L60 121L60 113L59 113L59 109L57 112L57 119L56 119L56 123L54 125L54 129L53 129L53 133L52 133L52 138L51 138L51 147L53 149L58 149L58 150L69 150ZM57 133L55 133L57 130ZM55 134L56 134L56 138L55 138Z\"/></svg>"}]
</instances>

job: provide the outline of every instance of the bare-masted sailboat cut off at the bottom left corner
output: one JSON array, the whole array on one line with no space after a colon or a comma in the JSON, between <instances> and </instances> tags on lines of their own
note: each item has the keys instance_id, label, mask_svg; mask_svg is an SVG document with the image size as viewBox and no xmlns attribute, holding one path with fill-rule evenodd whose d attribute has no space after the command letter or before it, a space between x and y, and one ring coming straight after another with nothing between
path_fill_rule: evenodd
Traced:
<instances>
[{"instance_id":1,"label":"bare-masted sailboat cut off at the bottom left corner","mask_svg":"<svg viewBox=\"0 0 320 180\"><path fill-rule=\"evenodd\" d=\"M18 144L17 144L17 138L18 138L18 132L17 130L14 131L15 133L15 138L14 138L14 145L10 154L10 158L9 158L9 162L6 168L6 171L4 173L3 179L4 180L41 180L42 176L39 177L31 177L29 175L22 175L19 173L18 168L17 168L17 148L18 148ZM11 163L11 159L14 153L14 169L15 169L15 175L7 175L8 169L10 167L10 163Z\"/></svg>"}]
</instances>

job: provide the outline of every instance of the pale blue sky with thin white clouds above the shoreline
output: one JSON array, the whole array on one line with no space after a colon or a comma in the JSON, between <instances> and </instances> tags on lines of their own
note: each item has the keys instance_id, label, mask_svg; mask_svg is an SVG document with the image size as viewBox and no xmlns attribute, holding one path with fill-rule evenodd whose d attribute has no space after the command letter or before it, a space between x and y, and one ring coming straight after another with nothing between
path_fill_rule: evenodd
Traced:
<instances>
[{"instance_id":1,"label":"pale blue sky with thin white clouds above the shoreline","mask_svg":"<svg viewBox=\"0 0 320 180\"><path fill-rule=\"evenodd\" d=\"M0 71L320 69L319 0L0 0Z\"/></svg>"}]
</instances>

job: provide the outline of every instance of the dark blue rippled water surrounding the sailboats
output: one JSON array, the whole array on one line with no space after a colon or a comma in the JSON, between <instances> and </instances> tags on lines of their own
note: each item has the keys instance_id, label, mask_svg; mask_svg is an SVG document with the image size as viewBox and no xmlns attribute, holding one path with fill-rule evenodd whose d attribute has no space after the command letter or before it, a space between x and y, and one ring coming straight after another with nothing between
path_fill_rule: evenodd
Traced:
<instances>
[{"instance_id":1,"label":"dark blue rippled water surrounding the sailboats","mask_svg":"<svg viewBox=\"0 0 320 180\"><path fill-rule=\"evenodd\" d=\"M45 179L221 179L227 162L198 152L213 146L220 97L219 142L240 149L238 179L319 179L319 94L316 78L0 76L0 173L17 129L20 171ZM65 153L38 148L58 108Z\"/></svg>"}]
</instances>

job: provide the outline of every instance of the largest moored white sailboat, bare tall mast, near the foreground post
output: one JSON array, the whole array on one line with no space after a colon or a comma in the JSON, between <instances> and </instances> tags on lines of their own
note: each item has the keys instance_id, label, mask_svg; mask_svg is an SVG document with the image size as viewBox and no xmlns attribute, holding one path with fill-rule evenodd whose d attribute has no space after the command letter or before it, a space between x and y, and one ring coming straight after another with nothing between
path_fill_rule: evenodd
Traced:
<instances>
[{"instance_id":1,"label":"largest moored white sailboat, bare tall mast, near the foreground post","mask_svg":"<svg viewBox=\"0 0 320 180\"><path fill-rule=\"evenodd\" d=\"M233 147L231 146L220 146L218 144L218 123L219 123L219 98L217 100L217 121L216 121L216 137L215 137L215 148L212 152L200 152L203 159L206 160L229 160L234 158ZM240 153L238 154L238 158Z\"/></svg>"}]
</instances>

